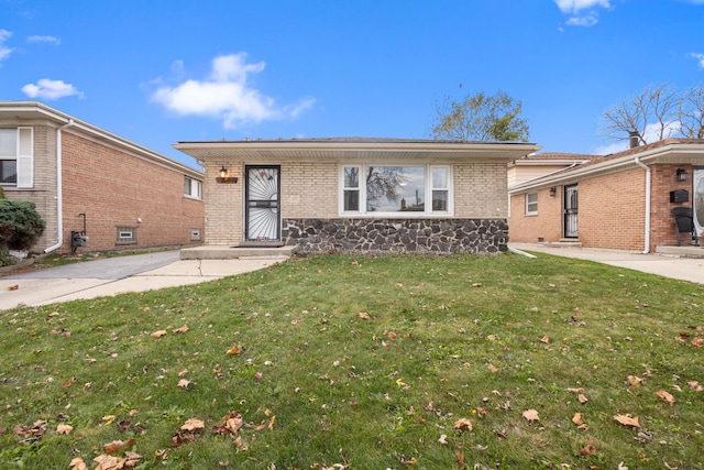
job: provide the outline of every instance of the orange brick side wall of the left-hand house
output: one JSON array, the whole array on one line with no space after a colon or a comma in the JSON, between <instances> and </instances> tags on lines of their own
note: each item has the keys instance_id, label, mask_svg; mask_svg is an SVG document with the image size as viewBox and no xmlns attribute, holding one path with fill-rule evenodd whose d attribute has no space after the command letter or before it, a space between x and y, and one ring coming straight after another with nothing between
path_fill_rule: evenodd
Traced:
<instances>
[{"instance_id":1,"label":"orange brick side wall of the left-hand house","mask_svg":"<svg viewBox=\"0 0 704 470\"><path fill-rule=\"evenodd\" d=\"M62 142L62 251L70 251L70 231L82 230L81 212L90 251L202 242L190 240L191 229L202 238L204 204L184 197L184 173L69 131ZM136 243L118 244L118 227L135 228Z\"/></svg>"}]
</instances>

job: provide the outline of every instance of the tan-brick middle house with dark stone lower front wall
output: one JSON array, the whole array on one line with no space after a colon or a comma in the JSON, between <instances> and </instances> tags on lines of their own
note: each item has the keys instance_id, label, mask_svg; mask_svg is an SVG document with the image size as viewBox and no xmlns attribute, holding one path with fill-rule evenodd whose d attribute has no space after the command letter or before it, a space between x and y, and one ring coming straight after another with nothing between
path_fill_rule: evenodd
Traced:
<instances>
[{"instance_id":1,"label":"tan-brick middle house with dark stone lower front wall","mask_svg":"<svg viewBox=\"0 0 704 470\"><path fill-rule=\"evenodd\" d=\"M506 165L539 149L365 138L174 146L205 163L207 245L470 253L507 250Z\"/></svg>"}]
</instances>

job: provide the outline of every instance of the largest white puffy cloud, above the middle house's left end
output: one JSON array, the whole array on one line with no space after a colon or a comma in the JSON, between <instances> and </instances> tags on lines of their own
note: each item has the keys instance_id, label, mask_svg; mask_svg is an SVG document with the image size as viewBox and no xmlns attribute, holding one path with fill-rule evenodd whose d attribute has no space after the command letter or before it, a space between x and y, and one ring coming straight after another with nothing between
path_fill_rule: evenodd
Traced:
<instances>
[{"instance_id":1,"label":"largest white puffy cloud, above the middle house's left end","mask_svg":"<svg viewBox=\"0 0 704 470\"><path fill-rule=\"evenodd\" d=\"M206 79L189 79L176 87L160 87L152 94L152 99L182 116L222 119L226 129L234 129L246 122L296 118L312 106L314 99L277 106L273 98L251 87L248 77L262 72L265 65L264 62L248 64L246 53L221 55L212 61L212 70ZM174 63L172 70L183 72L183 63Z\"/></svg>"}]
</instances>

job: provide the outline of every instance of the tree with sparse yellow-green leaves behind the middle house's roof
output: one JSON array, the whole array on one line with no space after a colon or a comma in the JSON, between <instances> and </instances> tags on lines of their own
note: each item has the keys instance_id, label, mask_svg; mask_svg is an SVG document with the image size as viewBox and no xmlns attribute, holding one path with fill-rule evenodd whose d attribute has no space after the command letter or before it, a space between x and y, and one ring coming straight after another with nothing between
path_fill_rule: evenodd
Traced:
<instances>
[{"instance_id":1,"label":"tree with sparse yellow-green leaves behind the middle house's roof","mask_svg":"<svg viewBox=\"0 0 704 470\"><path fill-rule=\"evenodd\" d=\"M527 142L528 122L520 117L522 103L504 91L483 91L457 101L446 96L435 103L433 139L458 141Z\"/></svg>"}]
</instances>

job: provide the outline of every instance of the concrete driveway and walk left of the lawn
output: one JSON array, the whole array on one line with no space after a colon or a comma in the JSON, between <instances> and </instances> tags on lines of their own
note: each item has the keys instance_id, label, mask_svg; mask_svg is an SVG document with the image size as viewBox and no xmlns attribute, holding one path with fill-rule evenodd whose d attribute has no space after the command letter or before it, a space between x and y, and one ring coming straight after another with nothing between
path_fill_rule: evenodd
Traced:
<instances>
[{"instance_id":1,"label":"concrete driveway and walk left of the lawn","mask_svg":"<svg viewBox=\"0 0 704 470\"><path fill-rule=\"evenodd\" d=\"M0 309L197 284L261 270L284 256L180 260L178 251L85 261L0 277Z\"/></svg>"}]
</instances>

